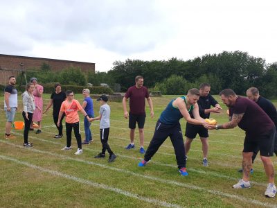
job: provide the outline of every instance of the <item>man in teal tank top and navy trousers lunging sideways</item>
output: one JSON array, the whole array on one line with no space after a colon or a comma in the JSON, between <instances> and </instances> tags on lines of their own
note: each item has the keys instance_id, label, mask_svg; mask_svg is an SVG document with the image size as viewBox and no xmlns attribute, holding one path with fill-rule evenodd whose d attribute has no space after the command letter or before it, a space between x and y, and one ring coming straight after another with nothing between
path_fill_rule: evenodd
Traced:
<instances>
[{"instance_id":1,"label":"man in teal tank top and navy trousers lunging sideways","mask_svg":"<svg viewBox=\"0 0 277 208\"><path fill-rule=\"evenodd\" d=\"M199 95L199 90L193 88L188 90L187 96L176 98L168 103L168 106L163 110L157 121L153 138L146 150L144 159L139 162L139 166L145 166L145 164L147 164L151 157L157 152L161 144L170 137L175 149L179 172L181 175L188 175L186 171L184 139L179 120L184 117L188 123L193 123L195 125L204 125L204 123L206 123L206 121L199 116L199 107L197 105ZM190 117L190 111L193 112L195 119Z\"/></svg>"}]
</instances>

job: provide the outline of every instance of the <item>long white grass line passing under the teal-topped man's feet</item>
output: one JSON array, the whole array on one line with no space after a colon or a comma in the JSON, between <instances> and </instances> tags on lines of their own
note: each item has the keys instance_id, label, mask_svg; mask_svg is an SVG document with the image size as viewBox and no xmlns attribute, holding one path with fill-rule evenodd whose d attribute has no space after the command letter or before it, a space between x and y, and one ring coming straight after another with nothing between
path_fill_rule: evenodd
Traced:
<instances>
[{"instance_id":1,"label":"long white grass line passing under the teal-topped man's feet","mask_svg":"<svg viewBox=\"0 0 277 208\"><path fill-rule=\"evenodd\" d=\"M14 133L15 135L21 135L19 133ZM21 135L22 136L22 135ZM39 139L37 137L32 137L32 136L29 136L31 139L36 139L36 140L39 140L39 141L45 141L45 142L48 142L48 143L51 143L51 144L57 144L57 145L61 145L60 143L58 142L55 142L55 141L50 141L50 140L46 140L46 139ZM1 141L1 140L0 140ZM96 152L98 150L92 150L91 148L82 148L83 150L87 150L89 152ZM128 156L128 155L120 155L118 153L116 153L116 155L120 156L120 157L124 157L124 158L127 158L127 159L133 159L133 160L136 160L138 161L140 158L138 157L132 157L132 156ZM153 160L151 160L151 163L153 164L157 164L157 165L160 165L160 166L168 166L168 167L172 167L172 168L177 168L177 165L174 165L174 164L163 164L161 162L154 162ZM222 166L222 164L220 164ZM230 167L233 167L233 166L230 166ZM195 173L202 173L202 174L205 174L205 175L213 175L215 177L221 177L221 178L225 178L227 180L238 180L238 178L235 178L235 177L230 177L228 175L222 175L220 173L216 173L216 172L212 172L212 171L202 171L202 170L197 170L195 168L188 168L188 171L193 171ZM254 181L251 181L252 184L256 184L256 185L260 185L262 187L266 187L267 185L266 184L263 184L263 183L258 183L258 182L254 182Z\"/></svg>"}]
</instances>

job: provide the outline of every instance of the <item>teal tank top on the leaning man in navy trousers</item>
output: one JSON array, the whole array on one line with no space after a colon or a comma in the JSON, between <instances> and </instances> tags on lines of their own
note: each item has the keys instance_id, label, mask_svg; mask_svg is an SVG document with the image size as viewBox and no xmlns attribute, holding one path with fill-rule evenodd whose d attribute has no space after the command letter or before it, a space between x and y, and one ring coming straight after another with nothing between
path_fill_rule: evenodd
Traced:
<instances>
[{"instance_id":1,"label":"teal tank top on the leaning man in navy trousers","mask_svg":"<svg viewBox=\"0 0 277 208\"><path fill-rule=\"evenodd\" d=\"M181 98L184 99L184 102L186 103L186 97L182 96ZM171 125L171 124L178 123L179 120L183 118L183 115L181 114L180 110L177 107L172 105L173 101L175 101L175 99L170 101L166 109L163 110L163 112L161 112L161 116L159 118L161 123ZM193 110L193 105L190 105L190 109L188 110L188 112L192 110Z\"/></svg>"}]
</instances>

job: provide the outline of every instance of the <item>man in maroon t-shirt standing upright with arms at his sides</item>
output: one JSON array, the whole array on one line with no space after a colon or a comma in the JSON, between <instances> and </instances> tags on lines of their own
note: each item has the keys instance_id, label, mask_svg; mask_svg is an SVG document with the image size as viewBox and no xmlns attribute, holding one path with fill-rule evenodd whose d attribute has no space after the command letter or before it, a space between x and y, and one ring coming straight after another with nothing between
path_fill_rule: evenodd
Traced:
<instances>
[{"instance_id":1,"label":"man in maroon t-shirt standing upright with arms at his sides","mask_svg":"<svg viewBox=\"0 0 277 208\"><path fill-rule=\"evenodd\" d=\"M154 116L152 100L149 96L148 89L143 86L143 77L136 76L136 85L129 87L124 98L123 98L123 110L125 119L129 118L129 129L130 129L130 144L126 147L127 150L134 148L134 130L136 123L139 126L139 141L141 148L139 152L144 154L144 123L145 123L145 98L150 106L151 119ZM127 112L127 100L129 98L129 113Z\"/></svg>"}]
</instances>

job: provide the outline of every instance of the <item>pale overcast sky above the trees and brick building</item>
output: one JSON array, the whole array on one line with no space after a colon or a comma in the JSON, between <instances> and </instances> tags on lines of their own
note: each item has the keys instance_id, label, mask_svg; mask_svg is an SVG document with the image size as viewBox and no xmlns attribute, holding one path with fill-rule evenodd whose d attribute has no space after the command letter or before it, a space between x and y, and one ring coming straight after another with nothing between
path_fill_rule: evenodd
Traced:
<instances>
[{"instance_id":1,"label":"pale overcast sky above the trees and brick building","mask_svg":"<svg viewBox=\"0 0 277 208\"><path fill-rule=\"evenodd\" d=\"M0 0L0 53L96 63L244 51L277 61L276 0Z\"/></svg>"}]
</instances>

